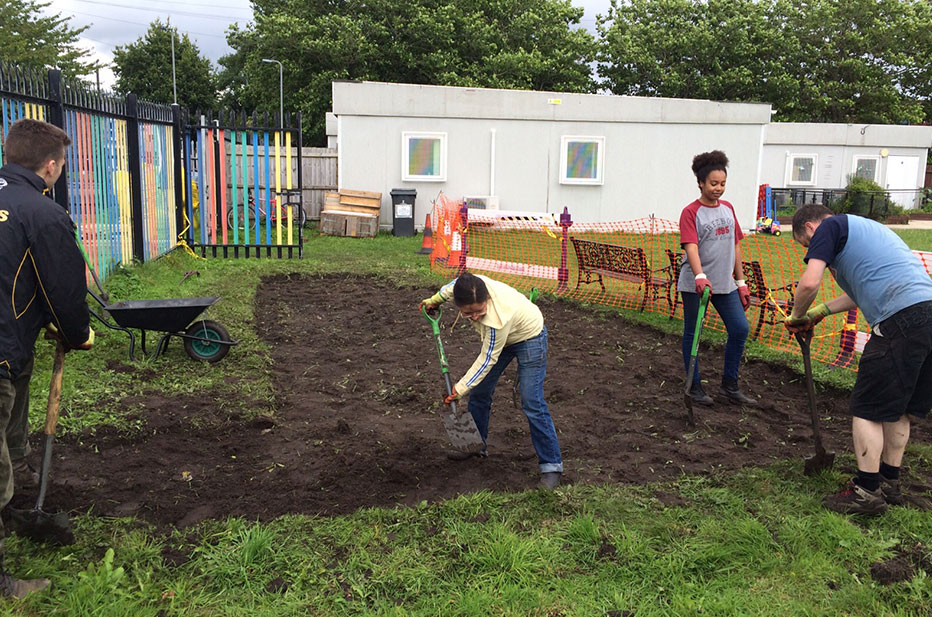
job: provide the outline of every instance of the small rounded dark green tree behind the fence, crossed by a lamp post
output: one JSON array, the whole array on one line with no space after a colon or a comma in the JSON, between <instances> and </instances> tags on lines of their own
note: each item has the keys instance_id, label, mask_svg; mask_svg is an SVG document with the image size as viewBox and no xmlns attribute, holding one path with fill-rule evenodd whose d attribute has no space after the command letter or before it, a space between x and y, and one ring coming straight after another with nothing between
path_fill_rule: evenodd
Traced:
<instances>
[{"instance_id":1,"label":"small rounded dark green tree behind the fence, crossed by a lamp post","mask_svg":"<svg viewBox=\"0 0 932 617\"><path fill-rule=\"evenodd\" d=\"M154 103L170 104L174 98L172 83L172 37L175 39L175 84L178 104L195 111L217 104L213 69L188 35L156 20L146 34L113 52L116 90L135 93Z\"/></svg>"}]
</instances>

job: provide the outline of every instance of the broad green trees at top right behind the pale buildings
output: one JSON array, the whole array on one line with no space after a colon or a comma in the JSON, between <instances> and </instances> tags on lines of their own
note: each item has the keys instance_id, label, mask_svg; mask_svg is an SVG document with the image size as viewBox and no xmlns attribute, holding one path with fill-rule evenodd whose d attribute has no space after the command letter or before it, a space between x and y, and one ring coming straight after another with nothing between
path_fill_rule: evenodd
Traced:
<instances>
[{"instance_id":1,"label":"broad green trees at top right behind the pale buildings","mask_svg":"<svg viewBox=\"0 0 932 617\"><path fill-rule=\"evenodd\" d=\"M616 94L763 101L776 120L932 118L928 0L613 0L598 30Z\"/></svg>"}]
</instances>

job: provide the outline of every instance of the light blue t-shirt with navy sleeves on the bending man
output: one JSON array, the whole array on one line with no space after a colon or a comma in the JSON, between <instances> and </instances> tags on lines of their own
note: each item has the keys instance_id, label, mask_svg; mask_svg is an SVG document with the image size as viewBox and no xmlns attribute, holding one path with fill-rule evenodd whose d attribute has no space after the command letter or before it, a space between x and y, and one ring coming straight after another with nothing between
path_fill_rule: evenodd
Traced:
<instances>
[{"instance_id":1,"label":"light blue t-shirt with navy sleeves on the bending man","mask_svg":"<svg viewBox=\"0 0 932 617\"><path fill-rule=\"evenodd\" d=\"M820 259L871 326L932 300L932 278L903 240L860 216L823 219L804 261Z\"/></svg>"}]
</instances>

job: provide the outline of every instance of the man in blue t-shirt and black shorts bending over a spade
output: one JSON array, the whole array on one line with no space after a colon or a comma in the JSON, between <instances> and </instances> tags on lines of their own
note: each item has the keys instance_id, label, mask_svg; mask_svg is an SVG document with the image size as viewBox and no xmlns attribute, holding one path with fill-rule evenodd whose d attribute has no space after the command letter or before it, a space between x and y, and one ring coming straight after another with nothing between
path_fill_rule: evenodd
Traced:
<instances>
[{"instance_id":1,"label":"man in blue t-shirt and black shorts bending over a spade","mask_svg":"<svg viewBox=\"0 0 932 617\"><path fill-rule=\"evenodd\" d=\"M850 402L858 473L845 490L825 498L825 507L881 514L888 504L904 503L899 477L910 416L922 419L932 408L932 279L880 223L833 216L819 204L797 210L793 239L809 250L787 329L810 330L853 308L871 327ZM811 306L826 268L845 293Z\"/></svg>"}]
</instances>

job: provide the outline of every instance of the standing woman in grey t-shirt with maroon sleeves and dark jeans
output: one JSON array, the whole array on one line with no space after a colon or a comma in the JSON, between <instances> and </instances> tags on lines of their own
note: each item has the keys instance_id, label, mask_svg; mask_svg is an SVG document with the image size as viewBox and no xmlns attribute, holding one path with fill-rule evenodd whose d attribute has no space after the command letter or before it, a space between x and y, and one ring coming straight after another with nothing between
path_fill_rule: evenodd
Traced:
<instances>
[{"instance_id":1,"label":"standing woman in grey t-shirt with maroon sleeves and dark jeans","mask_svg":"<svg viewBox=\"0 0 932 617\"><path fill-rule=\"evenodd\" d=\"M734 403L756 405L756 400L738 388L738 367L748 338L748 320L744 311L751 303L751 296L742 279L741 248L738 245L744 234L734 208L721 199L725 192L727 166L728 157L720 150L704 152L693 158L692 169L699 182L700 195L680 215L680 244L686 255L676 289L683 295L683 362L688 370L699 299L708 287L712 305L728 330L719 392ZM690 395L701 405L714 402L702 389L698 360Z\"/></svg>"}]
</instances>

